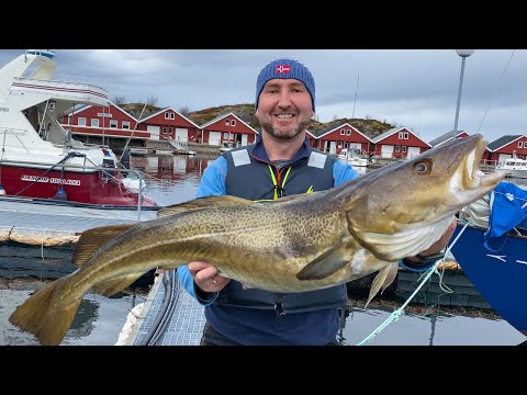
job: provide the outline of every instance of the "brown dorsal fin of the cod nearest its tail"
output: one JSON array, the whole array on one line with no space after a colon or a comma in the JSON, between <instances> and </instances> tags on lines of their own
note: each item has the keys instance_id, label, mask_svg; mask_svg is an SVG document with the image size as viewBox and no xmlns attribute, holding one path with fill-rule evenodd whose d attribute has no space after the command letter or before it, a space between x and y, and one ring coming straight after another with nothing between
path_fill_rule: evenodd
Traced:
<instances>
[{"instance_id":1,"label":"brown dorsal fin of the cod nearest its tail","mask_svg":"<svg viewBox=\"0 0 527 395\"><path fill-rule=\"evenodd\" d=\"M81 267L93 256L93 253L110 239L123 232L128 230L134 225L110 225L91 228L82 232L82 235L77 241L71 263Z\"/></svg>"}]
</instances>

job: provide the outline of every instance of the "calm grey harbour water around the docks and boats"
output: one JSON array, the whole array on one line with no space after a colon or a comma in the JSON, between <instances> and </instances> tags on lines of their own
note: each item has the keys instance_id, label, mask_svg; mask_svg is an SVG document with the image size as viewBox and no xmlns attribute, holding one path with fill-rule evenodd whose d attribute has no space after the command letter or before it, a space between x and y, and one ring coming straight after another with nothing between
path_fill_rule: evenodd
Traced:
<instances>
[{"instance_id":1,"label":"calm grey harbour water around the docks and boats","mask_svg":"<svg viewBox=\"0 0 527 395\"><path fill-rule=\"evenodd\" d=\"M146 194L162 205L191 200L201 176L215 157L153 156L134 157L133 167L148 176ZM363 172L362 170L361 172ZM507 181L513 181L512 179ZM527 189L527 180L514 180ZM3 293L2 293L3 292ZM7 323L7 317L30 294L30 291L0 292L0 345L35 345L29 334L20 332ZM64 340L64 345L114 345L126 315L144 295L121 294L106 298L87 295L80 313ZM357 303L345 321L341 332L345 345L357 345L377 329L399 305L377 305L365 311ZM430 313L431 312L431 313ZM492 312L491 312L492 313ZM495 314L482 311L428 311L408 307L405 314L389 325L368 345L518 345L527 338Z\"/></svg>"}]
</instances>

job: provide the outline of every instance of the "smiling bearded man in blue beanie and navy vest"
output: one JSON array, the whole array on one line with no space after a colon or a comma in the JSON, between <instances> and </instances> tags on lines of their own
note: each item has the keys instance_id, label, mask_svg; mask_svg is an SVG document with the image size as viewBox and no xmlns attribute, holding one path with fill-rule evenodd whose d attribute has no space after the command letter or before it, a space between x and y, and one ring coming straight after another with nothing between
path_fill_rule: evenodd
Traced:
<instances>
[{"instance_id":1,"label":"smiling bearded man in blue beanie and navy vest","mask_svg":"<svg viewBox=\"0 0 527 395\"><path fill-rule=\"evenodd\" d=\"M266 65L257 77L255 106L261 125L256 143L214 160L203 173L197 198L276 200L327 190L358 177L351 166L309 146L305 128L315 114L315 80L303 64L281 58ZM444 248L448 239L430 247L429 253ZM338 345L345 284L280 294L247 289L218 275L213 262L202 261L178 268L178 278L205 305L202 345Z\"/></svg>"}]
</instances>

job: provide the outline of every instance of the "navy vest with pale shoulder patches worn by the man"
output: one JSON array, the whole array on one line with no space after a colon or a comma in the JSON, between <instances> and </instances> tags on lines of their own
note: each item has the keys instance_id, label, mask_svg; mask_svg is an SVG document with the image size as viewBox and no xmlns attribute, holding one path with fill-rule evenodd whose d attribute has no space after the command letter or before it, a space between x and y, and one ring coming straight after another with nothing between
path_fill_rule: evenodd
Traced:
<instances>
[{"instance_id":1,"label":"navy vest with pale shoulder patches worn by the man","mask_svg":"<svg viewBox=\"0 0 527 395\"><path fill-rule=\"evenodd\" d=\"M336 158L316 149L282 163L280 169L253 155L254 145L223 154L227 161L226 192L249 200L274 200L299 193L333 188L333 165ZM255 180L257 180L255 182ZM303 293L274 293L244 289L229 281L214 304L247 308L276 309L278 314L338 308L347 301L346 285Z\"/></svg>"}]
</instances>

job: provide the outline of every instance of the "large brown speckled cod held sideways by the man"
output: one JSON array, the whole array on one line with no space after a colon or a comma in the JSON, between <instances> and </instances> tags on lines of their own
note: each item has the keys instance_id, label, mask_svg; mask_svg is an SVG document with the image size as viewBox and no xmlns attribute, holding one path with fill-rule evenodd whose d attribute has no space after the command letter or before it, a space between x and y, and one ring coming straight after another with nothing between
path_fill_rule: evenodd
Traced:
<instances>
[{"instance_id":1,"label":"large brown speckled cod held sideways by the man","mask_svg":"<svg viewBox=\"0 0 527 395\"><path fill-rule=\"evenodd\" d=\"M154 268L190 261L257 289L304 292L379 272L368 303L394 280L399 260L427 249L453 215L505 174L478 169L486 142L455 139L327 191L256 203L209 196L161 208L156 219L87 230L80 268L30 296L9 320L58 345L85 293L111 296Z\"/></svg>"}]
</instances>

